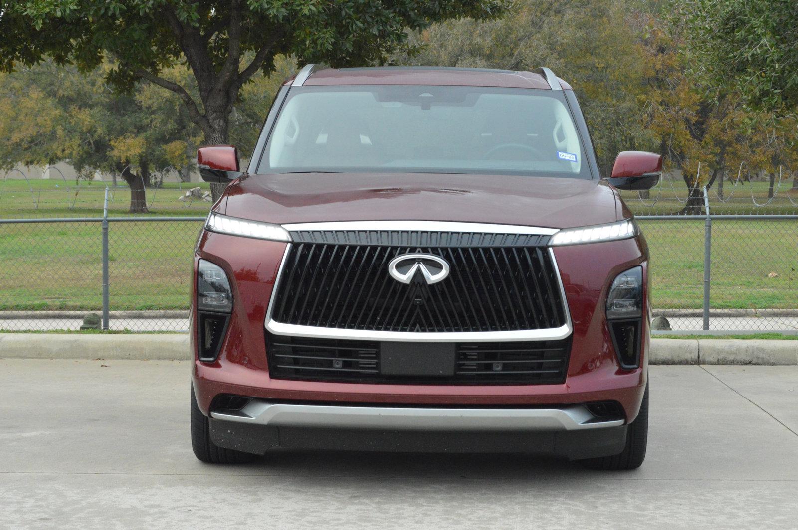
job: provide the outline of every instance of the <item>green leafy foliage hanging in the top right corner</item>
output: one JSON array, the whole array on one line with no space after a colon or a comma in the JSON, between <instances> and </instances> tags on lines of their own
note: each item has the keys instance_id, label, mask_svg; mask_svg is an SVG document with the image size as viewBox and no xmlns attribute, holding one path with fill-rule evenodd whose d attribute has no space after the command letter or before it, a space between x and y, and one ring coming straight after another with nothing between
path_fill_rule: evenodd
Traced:
<instances>
[{"instance_id":1,"label":"green leafy foliage hanging in the top right corner","mask_svg":"<svg viewBox=\"0 0 798 530\"><path fill-rule=\"evenodd\" d=\"M798 108L798 2L681 0L693 73L767 112Z\"/></svg>"}]
</instances>

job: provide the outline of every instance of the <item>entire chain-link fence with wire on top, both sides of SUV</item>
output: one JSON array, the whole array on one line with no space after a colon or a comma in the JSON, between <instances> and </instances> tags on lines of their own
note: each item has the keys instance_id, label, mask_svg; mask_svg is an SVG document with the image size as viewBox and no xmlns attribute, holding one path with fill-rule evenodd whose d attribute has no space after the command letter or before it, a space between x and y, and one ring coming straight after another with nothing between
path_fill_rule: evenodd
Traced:
<instances>
[{"instance_id":1,"label":"entire chain-link fence with wire on top, both sides of SUV","mask_svg":"<svg viewBox=\"0 0 798 530\"><path fill-rule=\"evenodd\" d=\"M729 187L721 206L732 200ZM674 332L798 330L795 209L772 200L754 214L715 214L728 209L708 193L697 215L684 215L682 193L658 213L640 207L654 199L637 195L624 193L649 245L654 316L665 316ZM122 217L110 206L109 328L186 331L192 248L210 205L185 217ZM102 313L103 224L97 216L0 218L0 330L77 329L87 312Z\"/></svg>"}]
</instances>

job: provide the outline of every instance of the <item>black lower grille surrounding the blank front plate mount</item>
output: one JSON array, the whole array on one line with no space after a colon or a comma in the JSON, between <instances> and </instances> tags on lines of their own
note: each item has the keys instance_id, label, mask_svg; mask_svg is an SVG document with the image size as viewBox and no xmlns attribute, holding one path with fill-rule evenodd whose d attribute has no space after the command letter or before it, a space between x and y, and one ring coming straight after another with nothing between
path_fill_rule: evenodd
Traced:
<instances>
[{"instance_id":1,"label":"black lower grille surrounding the blank front plate mount","mask_svg":"<svg viewBox=\"0 0 798 530\"><path fill-rule=\"evenodd\" d=\"M379 341L279 336L267 332L269 371L275 379L342 383L556 384L563 383L571 338L458 343L453 375L381 373ZM413 343L423 351L425 343ZM434 352L431 355L436 355Z\"/></svg>"}]
</instances>

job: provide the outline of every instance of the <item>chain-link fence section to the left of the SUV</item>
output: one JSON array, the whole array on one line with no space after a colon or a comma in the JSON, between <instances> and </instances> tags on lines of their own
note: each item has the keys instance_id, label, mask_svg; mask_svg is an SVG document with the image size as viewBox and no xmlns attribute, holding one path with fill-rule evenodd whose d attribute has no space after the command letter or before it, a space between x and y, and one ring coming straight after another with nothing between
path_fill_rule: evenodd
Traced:
<instances>
[{"instance_id":1,"label":"chain-link fence section to the left of the SUV","mask_svg":"<svg viewBox=\"0 0 798 530\"><path fill-rule=\"evenodd\" d=\"M186 331L204 217L108 218L109 328ZM103 311L102 218L0 219L0 329L78 329Z\"/></svg>"}]
</instances>

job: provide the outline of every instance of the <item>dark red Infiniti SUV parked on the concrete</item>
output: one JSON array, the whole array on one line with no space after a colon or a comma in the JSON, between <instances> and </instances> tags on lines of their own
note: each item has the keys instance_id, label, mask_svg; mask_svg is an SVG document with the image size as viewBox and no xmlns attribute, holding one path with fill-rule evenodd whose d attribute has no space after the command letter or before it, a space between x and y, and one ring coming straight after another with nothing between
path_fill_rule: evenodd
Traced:
<instances>
[{"instance_id":1,"label":"dark red Infiniti SUV parked on the concrete","mask_svg":"<svg viewBox=\"0 0 798 530\"><path fill-rule=\"evenodd\" d=\"M303 68L196 245L192 445L646 453L648 253L571 86L534 72Z\"/></svg>"}]
</instances>

